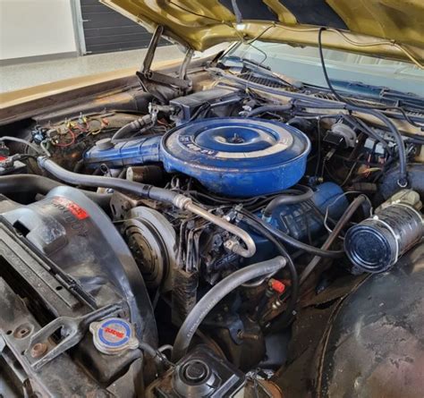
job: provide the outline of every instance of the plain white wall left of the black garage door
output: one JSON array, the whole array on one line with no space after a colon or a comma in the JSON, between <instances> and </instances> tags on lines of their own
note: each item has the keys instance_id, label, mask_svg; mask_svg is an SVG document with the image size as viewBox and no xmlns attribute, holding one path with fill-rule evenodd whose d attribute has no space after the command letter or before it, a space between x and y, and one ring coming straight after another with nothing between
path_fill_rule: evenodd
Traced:
<instances>
[{"instance_id":1,"label":"plain white wall left of the black garage door","mask_svg":"<svg viewBox=\"0 0 424 398\"><path fill-rule=\"evenodd\" d=\"M71 2L0 0L0 60L76 55Z\"/></svg>"}]
</instances>

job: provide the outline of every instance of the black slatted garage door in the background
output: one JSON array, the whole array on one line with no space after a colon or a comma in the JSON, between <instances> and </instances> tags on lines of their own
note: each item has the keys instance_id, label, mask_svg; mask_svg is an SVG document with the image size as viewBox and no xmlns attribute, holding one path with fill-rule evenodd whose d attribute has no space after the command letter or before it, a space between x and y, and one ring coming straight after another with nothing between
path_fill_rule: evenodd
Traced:
<instances>
[{"instance_id":1,"label":"black slatted garage door in the background","mask_svg":"<svg viewBox=\"0 0 424 398\"><path fill-rule=\"evenodd\" d=\"M151 35L139 24L98 0L80 1L86 54L148 47Z\"/></svg>"}]
</instances>

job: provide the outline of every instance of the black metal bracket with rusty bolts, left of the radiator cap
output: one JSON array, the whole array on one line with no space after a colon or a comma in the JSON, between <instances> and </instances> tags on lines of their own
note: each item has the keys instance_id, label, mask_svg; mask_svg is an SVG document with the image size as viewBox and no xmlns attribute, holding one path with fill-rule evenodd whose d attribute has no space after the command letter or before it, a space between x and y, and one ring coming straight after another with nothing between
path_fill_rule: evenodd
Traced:
<instances>
[{"instance_id":1,"label":"black metal bracket with rusty bolts, left of the radiator cap","mask_svg":"<svg viewBox=\"0 0 424 398\"><path fill-rule=\"evenodd\" d=\"M65 351L68 351L77 343L80 343L84 334L86 334L89 330L89 324L91 322L101 318L115 316L122 310L123 307L121 304L111 304L102 309L89 312L89 314L83 315L81 317L55 318L55 320L44 326L42 329L38 330L36 334L33 334L30 339L30 346L25 351L25 356L30 361L31 368L37 371L51 360L54 360ZM59 329L61 329L61 334L64 335L64 339L61 340L52 349L47 351L47 339L50 338L52 334L55 334L55 332ZM38 346L36 344L38 344ZM40 352L40 358L34 361L34 349L36 347L43 347L47 353L44 354L44 352Z\"/></svg>"}]
</instances>

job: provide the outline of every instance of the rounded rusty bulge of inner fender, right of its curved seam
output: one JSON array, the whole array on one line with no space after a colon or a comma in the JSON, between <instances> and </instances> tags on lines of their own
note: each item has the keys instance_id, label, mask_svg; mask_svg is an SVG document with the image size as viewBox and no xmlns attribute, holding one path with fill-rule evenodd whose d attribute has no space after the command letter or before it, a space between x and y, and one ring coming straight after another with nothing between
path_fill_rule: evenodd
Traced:
<instances>
[{"instance_id":1,"label":"rounded rusty bulge of inner fender, right of its curved seam","mask_svg":"<svg viewBox=\"0 0 424 398\"><path fill-rule=\"evenodd\" d=\"M424 244L337 311L318 358L319 397L424 394Z\"/></svg>"}]
</instances>

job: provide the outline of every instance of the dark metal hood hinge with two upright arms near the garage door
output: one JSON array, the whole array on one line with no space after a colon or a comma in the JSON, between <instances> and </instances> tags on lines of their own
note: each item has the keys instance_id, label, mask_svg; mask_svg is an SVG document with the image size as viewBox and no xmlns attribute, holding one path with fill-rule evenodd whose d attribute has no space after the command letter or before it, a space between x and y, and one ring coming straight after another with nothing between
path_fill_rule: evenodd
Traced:
<instances>
[{"instance_id":1,"label":"dark metal hood hinge with two upright arms near the garage door","mask_svg":"<svg viewBox=\"0 0 424 398\"><path fill-rule=\"evenodd\" d=\"M158 25L150 40L150 44L148 45L148 52L144 58L143 67L140 72L137 72L137 76L139 76L141 80L151 80L168 86L175 86L182 90L191 89L191 80L187 79L187 66L190 64L191 57L193 55L193 50L191 48L188 49L185 54L184 61L182 62L180 71L178 72L178 77L169 76L164 73L151 70L157 45L159 44L159 40L163 33L164 27L162 25Z\"/></svg>"}]
</instances>

